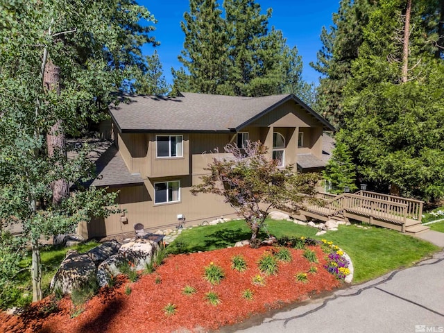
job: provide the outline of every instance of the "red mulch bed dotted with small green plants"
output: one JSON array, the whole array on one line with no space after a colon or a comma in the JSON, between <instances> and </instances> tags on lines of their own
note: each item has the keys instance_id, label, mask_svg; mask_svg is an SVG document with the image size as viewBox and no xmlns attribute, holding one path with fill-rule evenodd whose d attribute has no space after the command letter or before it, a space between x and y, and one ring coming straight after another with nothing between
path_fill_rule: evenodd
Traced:
<instances>
[{"instance_id":1,"label":"red mulch bed dotted with small green plants","mask_svg":"<svg viewBox=\"0 0 444 333\"><path fill-rule=\"evenodd\" d=\"M225 248L205 253L170 256L151 275L142 275L137 282L121 278L113 289L103 288L85 305L85 311L70 318L73 307L69 298L59 302L56 313L44 315L42 308L49 303L46 298L33 304L21 316L0 313L0 332L173 332L175 330L215 330L223 325L239 323L252 314L282 307L290 302L307 300L315 293L339 287L341 282L323 268L325 254L319 247L316 252L318 272L307 274L309 282L296 282L294 275L307 272L309 262L302 257L302 250L289 249L293 261L279 263L278 275L265 278L265 286L252 283L259 274L257 261L271 246L253 249ZM248 264L244 273L231 268L231 258L243 255ZM203 280L204 267L210 262L225 272L221 284L212 286ZM157 283L156 283L157 278ZM160 283L159 283L160 278ZM125 289L132 289L126 295ZM191 296L182 294L186 285L196 288ZM245 289L254 292L253 300L244 300ZM204 300L208 291L219 295L221 304L210 305ZM166 316L163 308L168 303L177 306L176 314Z\"/></svg>"}]
</instances>

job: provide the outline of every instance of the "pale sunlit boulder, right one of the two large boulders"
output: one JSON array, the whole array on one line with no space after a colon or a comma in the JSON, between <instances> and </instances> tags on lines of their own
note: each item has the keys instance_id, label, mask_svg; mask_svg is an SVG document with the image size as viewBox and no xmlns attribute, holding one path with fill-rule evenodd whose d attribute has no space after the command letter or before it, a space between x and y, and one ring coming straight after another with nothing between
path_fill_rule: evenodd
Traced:
<instances>
[{"instance_id":1,"label":"pale sunlit boulder, right one of the two large boulders","mask_svg":"<svg viewBox=\"0 0 444 333\"><path fill-rule=\"evenodd\" d=\"M159 246L155 241L137 239L123 244L116 255L108 257L97 268L97 282L100 287L109 284L112 277L121 274L121 266L130 264L132 269L140 271L153 261Z\"/></svg>"}]
</instances>

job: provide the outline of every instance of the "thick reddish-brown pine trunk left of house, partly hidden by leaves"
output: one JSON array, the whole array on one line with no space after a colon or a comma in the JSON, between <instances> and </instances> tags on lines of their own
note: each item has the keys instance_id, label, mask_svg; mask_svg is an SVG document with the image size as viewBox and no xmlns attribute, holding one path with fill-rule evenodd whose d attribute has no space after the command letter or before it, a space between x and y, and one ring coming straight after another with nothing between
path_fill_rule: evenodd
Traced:
<instances>
[{"instance_id":1,"label":"thick reddish-brown pine trunk left of house, partly hidden by leaves","mask_svg":"<svg viewBox=\"0 0 444 333\"><path fill-rule=\"evenodd\" d=\"M51 60L48 60L44 68L43 85L46 91L56 90L58 94L60 93L60 68L54 65ZM61 119L58 119L49 129L46 135L46 144L48 157L66 160L65 132ZM65 179L55 180L51 188L53 190L53 205L58 205L63 198L69 196L69 184Z\"/></svg>"}]
</instances>

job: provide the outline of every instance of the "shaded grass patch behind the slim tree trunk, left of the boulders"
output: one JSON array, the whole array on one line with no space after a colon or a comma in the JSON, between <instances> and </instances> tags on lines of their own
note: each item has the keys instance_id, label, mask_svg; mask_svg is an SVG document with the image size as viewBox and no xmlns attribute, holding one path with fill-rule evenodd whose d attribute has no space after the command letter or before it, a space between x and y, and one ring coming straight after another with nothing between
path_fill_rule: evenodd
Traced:
<instances>
[{"instance_id":1,"label":"shaded grass patch behind the slim tree trunk, left of the boulders","mask_svg":"<svg viewBox=\"0 0 444 333\"><path fill-rule=\"evenodd\" d=\"M79 244L71 248L64 248L61 246L44 246L40 248L40 259L42 262L42 289L44 295L49 294L49 284L54 274L58 270L60 263L65 258L68 250L78 250L78 253L86 252L87 250L98 246L96 241L89 241L85 244ZM20 262L20 267L28 268L31 266L31 252L26 255L26 258ZM32 284L31 284L31 272L25 269L18 275L19 289L28 296L22 300L23 304L31 302L32 299Z\"/></svg>"}]
</instances>

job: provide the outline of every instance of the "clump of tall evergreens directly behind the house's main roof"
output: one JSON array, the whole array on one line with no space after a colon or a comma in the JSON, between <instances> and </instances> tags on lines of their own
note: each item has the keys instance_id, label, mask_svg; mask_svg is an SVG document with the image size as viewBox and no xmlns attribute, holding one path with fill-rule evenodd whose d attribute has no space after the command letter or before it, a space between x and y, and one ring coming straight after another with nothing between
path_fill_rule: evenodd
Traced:
<instances>
[{"instance_id":1,"label":"clump of tall evergreens directly behind the house's main roof","mask_svg":"<svg viewBox=\"0 0 444 333\"><path fill-rule=\"evenodd\" d=\"M294 93L312 103L312 85L301 78L302 59L282 32L268 29L271 9L261 14L254 0L227 0L225 19L216 0L192 0L182 30L179 57L184 68L173 70L173 94L180 90L207 94L264 96Z\"/></svg>"}]
</instances>

